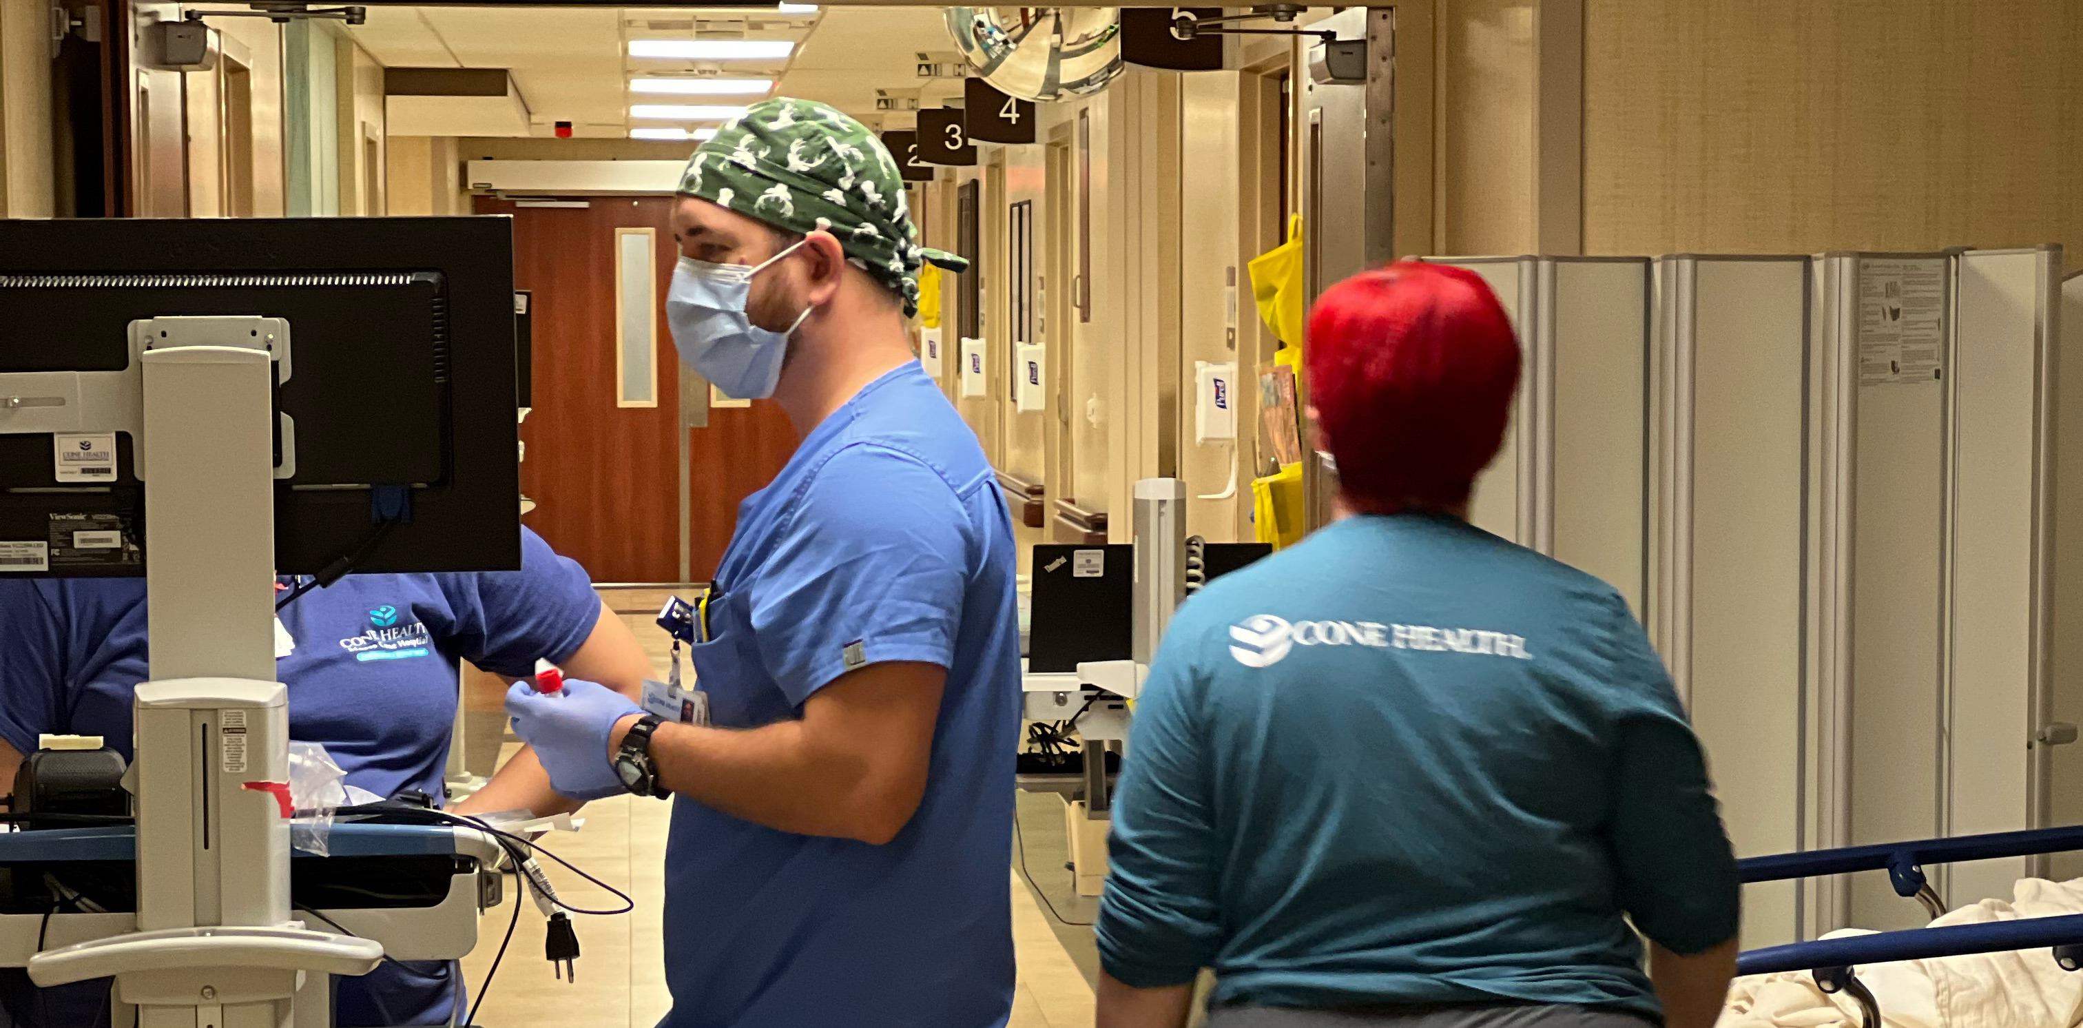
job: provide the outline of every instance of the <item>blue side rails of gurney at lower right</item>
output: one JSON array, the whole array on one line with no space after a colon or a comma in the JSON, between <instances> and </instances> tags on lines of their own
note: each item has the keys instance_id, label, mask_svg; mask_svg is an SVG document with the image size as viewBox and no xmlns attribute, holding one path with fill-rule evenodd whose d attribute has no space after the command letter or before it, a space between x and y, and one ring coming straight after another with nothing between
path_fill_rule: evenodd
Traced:
<instances>
[{"instance_id":1,"label":"blue side rails of gurney at lower right","mask_svg":"<svg viewBox=\"0 0 2083 1028\"><path fill-rule=\"evenodd\" d=\"M1943 913L1943 903L1939 903L1925 878L1927 863L2035 857L2071 851L2083 851L2083 826L1781 853L1737 861L1737 874L1748 884L1885 870L1898 895L1923 899L1931 913L1939 915ZM1860 984L1854 974L1856 965L1964 957L1971 953L2008 953L2018 949L2052 949L2054 961L2062 970L2075 972L2083 968L2083 913L1791 943L1752 949L1737 957L1735 968L1737 974L1812 972L1816 986L1825 993L1841 990L1858 1001L1866 1028L1881 1028L1879 1003Z\"/></svg>"}]
</instances>

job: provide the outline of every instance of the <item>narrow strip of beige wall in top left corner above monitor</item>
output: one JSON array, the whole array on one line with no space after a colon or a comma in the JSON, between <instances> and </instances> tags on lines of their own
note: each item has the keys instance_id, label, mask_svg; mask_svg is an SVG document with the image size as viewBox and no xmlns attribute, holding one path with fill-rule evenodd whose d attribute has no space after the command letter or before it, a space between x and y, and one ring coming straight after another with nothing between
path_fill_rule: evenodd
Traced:
<instances>
[{"instance_id":1,"label":"narrow strip of beige wall in top left corner above monitor","mask_svg":"<svg viewBox=\"0 0 2083 1028\"><path fill-rule=\"evenodd\" d=\"M50 6L0 0L0 217L54 213Z\"/></svg>"}]
</instances>

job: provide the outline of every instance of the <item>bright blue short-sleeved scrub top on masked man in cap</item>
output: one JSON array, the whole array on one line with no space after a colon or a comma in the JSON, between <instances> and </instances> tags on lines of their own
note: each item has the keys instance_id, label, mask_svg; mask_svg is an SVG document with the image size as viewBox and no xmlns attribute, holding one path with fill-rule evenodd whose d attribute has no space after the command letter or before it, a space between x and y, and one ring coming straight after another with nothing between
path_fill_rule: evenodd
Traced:
<instances>
[{"instance_id":1,"label":"bright blue short-sleeved scrub top on masked man in cap","mask_svg":"<svg viewBox=\"0 0 2083 1028\"><path fill-rule=\"evenodd\" d=\"M994 1028L1012 1009L1012 521L975 434L917 363L817 425L737 509L710 642L717 726L802 715L831 680L937 663L919 813L883 847L681 797L667 849L662 1028Z\"/></svg>"}]
</instances>

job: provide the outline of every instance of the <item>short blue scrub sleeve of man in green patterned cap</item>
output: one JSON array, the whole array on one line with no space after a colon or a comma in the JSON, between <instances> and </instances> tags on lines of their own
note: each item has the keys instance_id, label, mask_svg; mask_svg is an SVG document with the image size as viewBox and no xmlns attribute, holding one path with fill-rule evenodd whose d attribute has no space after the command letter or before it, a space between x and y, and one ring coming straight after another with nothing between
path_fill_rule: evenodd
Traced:
<instances>
[{"instance_id":1,"label":"short blue scrub sleeve of man in green patterned cap","mask_svg":"<svg viewBox=\"0 0 2083 1028\"><path fill-rule=\"evenodd\" d=\"M789 703L871 663L954 663L975 532L939 471L852 444L810 475L777 534L769 559L733 588L746 592L760 663Z\"/></svg>"}]
</instances>

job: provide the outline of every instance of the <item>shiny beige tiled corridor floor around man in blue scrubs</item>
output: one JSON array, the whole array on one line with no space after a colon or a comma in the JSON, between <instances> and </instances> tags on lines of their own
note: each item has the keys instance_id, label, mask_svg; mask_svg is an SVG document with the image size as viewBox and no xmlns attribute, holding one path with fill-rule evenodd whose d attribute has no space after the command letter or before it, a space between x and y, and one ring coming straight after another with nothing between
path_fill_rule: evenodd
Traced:
<instances>
[{"instance_id":1,"label":"shiny beige tiled corridor floor around man in blue scrubs","mask_svg":"<svg viewBox=\"0 0 2083 1028\"><path fill-rule=\"evenodd\" d=\"M662 590L608 590L608 607L629 621L629 628L664 671L671 642L652 623L664 603ZM689 596L692 598L692 596ZM485 774L494 759L504 759L517 744L504 738L500 690L477 686L469 692L471 763ZM502 740L498 749L481 740ZM1073 922L1089 922L1094 903L1073 895L1062 870L1066 847L1062 813L1054 797L1021 797L1021 836L1027 842L1027 870L1039 897ZM671 1007L660 959L660 911L664 907L664 836L669 807L633 797L592 803L585 807L585 828L577 834L546 838L544 847L587 874L629 892L637 909L625 917L579 917L577 982L558 982L544 961L544 920L533 905L521 911L519 928L508 945L500 972L485 988L477 1024L487 1028L652 1028ZM544 861L558 897L575 907L606 907L610 897L581 882L575 874ZM1019 959L1019 990L1012 1003L1010 1028L1089 1028L1091 982L1098 957L1091 928L1064 926L1052 917L1035 890L1029 890L1019 867L1006 886L1012 890L1012 943ZM510 892L508 882L508 892ZM462 961L473 988L483 988L485 972L500 949L500 938L512 920L512 897L479 922L477 951Z\"/></svg>"}]
</instances>

